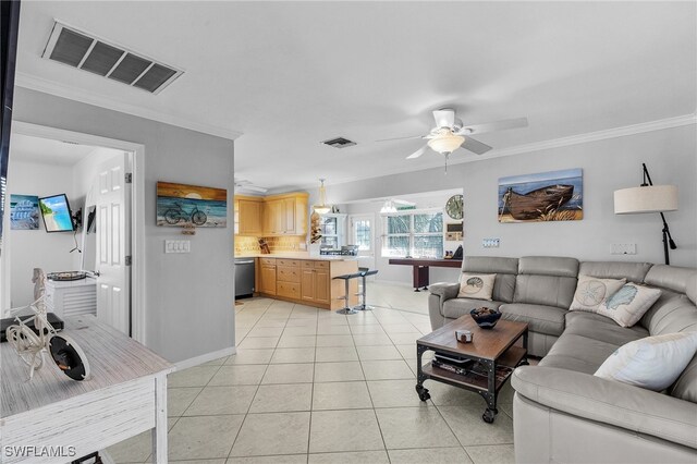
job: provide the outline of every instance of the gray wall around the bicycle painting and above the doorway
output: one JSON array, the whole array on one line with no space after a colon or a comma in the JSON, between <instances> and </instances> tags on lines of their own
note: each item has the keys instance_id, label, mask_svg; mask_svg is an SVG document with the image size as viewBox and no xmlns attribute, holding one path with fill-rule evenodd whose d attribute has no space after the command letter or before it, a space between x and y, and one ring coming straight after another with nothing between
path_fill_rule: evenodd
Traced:
<instances>
[{"instance_id":1,"label":"gray wall around the bicycle painting and above the doorway","mask_svg":"<svg viewBox=\"0 0 697 464\"><path fill-rule=\"evenodd\" d=\"M164 255L179 229L155 225L157 181L228 190L233 216L233 142L17 88L16 121L145 145L147 345L172 362L234 346L233 228L198 229L191 254Z\"/></svg>"}]
</instances>

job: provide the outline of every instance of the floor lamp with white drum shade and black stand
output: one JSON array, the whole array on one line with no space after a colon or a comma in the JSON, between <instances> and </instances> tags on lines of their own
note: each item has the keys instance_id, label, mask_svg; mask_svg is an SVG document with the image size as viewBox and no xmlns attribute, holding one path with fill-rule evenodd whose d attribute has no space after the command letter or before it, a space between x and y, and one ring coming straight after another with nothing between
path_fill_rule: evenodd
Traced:
<instances>
[{"instance_id":1,"label":"floor lamp with white drum shade and black stand","mask_svg":"<svg viewBox=\"0 0 697 464\"><path fill-rule=\"evenodd\" d=\"M653 185L651 176L646 168L646 163L641 163L644 168L644 183L639 187L622 188L614 192L614 213L615 215L635 215L643 212L659 212L663 221L663 253L665 254L665 264L670 265L670 249L677 248L671 231L668 229L665 216L663 211L675 211L677 209L677 186L676 185Z\"/></svg>"}]
</instances>

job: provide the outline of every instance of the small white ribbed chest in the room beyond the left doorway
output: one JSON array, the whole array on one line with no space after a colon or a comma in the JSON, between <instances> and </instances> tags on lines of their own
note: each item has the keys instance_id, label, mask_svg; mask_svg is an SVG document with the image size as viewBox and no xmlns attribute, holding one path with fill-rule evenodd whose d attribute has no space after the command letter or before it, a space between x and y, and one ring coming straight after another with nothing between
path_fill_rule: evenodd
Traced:
<instances>
[{"instance_id":1,"label":"small white ribbed chest in the room beyond the left doorway","mask_svg":"<svg viewBox=\"0 0 697 464\"><path fill-rule=\"evenodd\" d=\"M47 280L46 310L56 313L61 319L65 316L97 314L97 279Z\"/></svg>"}]
</instances>

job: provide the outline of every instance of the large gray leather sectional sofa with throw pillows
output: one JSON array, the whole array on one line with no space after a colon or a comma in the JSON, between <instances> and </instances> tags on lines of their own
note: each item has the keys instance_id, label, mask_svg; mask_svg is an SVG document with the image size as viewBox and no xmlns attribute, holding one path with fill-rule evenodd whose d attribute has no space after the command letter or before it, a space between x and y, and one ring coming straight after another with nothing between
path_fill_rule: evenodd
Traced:
<instances>
[{"instance_id":1,"label":"large gray leather sectional sofa with throw pillows","mask_svg":"<svg viewBox=\"0 0 697 464\"><path fill-rule=\"evenodd\" d=\"M537 366L512 376L519 463L697 462L697 356L657 393L594 373L617 347L649 335L697 331L697 269L563 257L466 257L463 272L496 273L492 301L457 297L458 283L430 285L433 329L474 307L501 309L529 325ZM578 276L661 289L631 328L594 313L570 312ZM665 359L670 363L670 359Z\"/></svg>"}]
</instances>

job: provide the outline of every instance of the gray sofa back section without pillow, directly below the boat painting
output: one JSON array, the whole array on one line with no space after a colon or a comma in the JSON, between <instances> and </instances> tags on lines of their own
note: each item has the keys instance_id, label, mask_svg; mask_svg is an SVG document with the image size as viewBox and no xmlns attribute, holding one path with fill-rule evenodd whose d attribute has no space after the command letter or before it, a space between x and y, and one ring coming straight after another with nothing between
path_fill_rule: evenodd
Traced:
<instances>
[{"instance_id":1,"label":"gray sofa back section without pillow, directly below the boat painting","mask_svg":"<svg viewBox=\"0 0 697 464\"><path fill-rule=\"evenodd\" d=\"M526 256L518 260L515 303L567 309L576 291L578 260L553 256Z\"/></svg>"}]
</instances>

